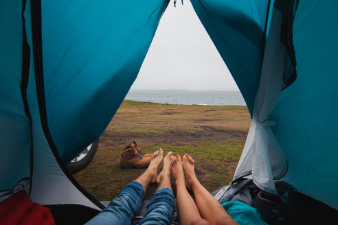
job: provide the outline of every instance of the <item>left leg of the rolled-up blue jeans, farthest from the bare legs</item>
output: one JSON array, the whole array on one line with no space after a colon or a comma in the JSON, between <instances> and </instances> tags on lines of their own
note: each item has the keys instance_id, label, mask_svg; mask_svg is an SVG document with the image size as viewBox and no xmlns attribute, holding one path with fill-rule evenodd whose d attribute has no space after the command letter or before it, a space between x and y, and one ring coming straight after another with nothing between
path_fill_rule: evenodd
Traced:
<instances>
[{"instance_id":1,"label":"left leg of the rolled-up blue jeans, farthest from the bare legs","mask_svg":"<svg viewBox=\"0 0 338 225\"><path fill-rule=\"evenodd\" d=\"M133 217L141 208L143 200L143 186L137 181L130 182L122 189L120 195L109 203L106 209L89 220L86 225L131 224Z\"/></svg>"}]
</instances>

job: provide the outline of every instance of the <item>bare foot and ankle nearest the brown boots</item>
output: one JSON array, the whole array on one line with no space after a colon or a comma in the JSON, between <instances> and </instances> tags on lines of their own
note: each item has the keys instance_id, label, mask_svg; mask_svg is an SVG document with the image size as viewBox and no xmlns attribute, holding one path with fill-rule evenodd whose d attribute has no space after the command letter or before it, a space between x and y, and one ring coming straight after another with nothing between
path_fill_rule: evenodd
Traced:
<instances>
[{"instance_id":1,"label":"bare foot and ankle nearest the brown boots","mask_svg":"<svg viewBox=\"0 0 338 225\"><path fill-rule=\"evenodd\" d=\"M146 171L144 171L144 173L135 180L143 186L144 192L146 192L150 182L155 182L157 177L157 169L159 167L159 163L161 163L162 160L163 150L160 148L159 150L154 152Z\"/></svg>"}]
</instances>

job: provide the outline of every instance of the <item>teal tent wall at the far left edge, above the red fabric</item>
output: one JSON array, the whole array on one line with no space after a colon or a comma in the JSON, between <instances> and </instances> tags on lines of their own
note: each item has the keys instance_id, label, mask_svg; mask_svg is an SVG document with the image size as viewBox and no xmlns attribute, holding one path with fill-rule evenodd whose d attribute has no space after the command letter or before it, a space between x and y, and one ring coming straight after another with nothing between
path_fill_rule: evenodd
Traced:
<instances>
[{"instance_id":1,"label":"teal tent wall at the far left edge, above the red fabric","mask_svg":"<svg viewBox=\"0 0 338 225\"><path fill-rule=\"evenodd\" d=\"M21 1L0 1L0 190L30 176L30 119L20 89L22 8Z\"/></svg>"}]
</instances>

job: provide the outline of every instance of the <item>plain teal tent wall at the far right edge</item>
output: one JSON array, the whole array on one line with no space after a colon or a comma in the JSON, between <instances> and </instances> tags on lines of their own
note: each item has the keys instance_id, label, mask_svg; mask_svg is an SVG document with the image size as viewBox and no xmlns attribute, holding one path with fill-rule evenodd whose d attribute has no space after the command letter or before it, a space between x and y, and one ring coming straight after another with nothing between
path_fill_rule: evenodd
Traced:
<instances>
[{"instance_id":1,"label":"plain teal tent wall at the far right edge","mask_svg":"<svg viewBox=\"0 0 338 225\"><path fill-rule=\"evenodd\" d=\"M300 1L293 24L297 80L271 117L298 191L338 209L337 1Z\"/></svg>"}]
</instances>

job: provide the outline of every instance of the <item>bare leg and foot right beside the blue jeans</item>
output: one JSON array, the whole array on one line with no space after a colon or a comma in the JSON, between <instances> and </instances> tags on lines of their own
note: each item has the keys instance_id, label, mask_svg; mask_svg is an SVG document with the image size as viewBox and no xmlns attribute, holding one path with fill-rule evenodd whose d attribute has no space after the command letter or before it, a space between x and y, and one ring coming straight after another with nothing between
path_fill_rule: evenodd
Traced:
<instances>
[{"instance_id":1,"label":"bare leg and foot right beside the blue jeans","mask_svg":"<svg viewBox=\"0 0 338 225\"><path fill-rule=\"evenodd\" d=\"M182 161L179 155L171 157L171 172L176 182L177 208L179 211L180 224L209 224L199 214L199 209L185 188Z\"/></svg>"}]
</instances>

